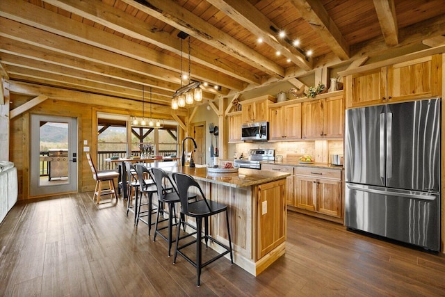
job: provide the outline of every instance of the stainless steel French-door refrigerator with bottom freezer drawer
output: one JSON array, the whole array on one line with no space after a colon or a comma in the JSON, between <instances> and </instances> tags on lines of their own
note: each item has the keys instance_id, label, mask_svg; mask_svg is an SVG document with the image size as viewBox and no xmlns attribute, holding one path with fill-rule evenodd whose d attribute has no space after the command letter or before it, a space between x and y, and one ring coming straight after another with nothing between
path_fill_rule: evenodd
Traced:
<instances>
[{"instance_id":1,"label":"stainless steel French-door refrigerator with bottom freezer drawer","mask_svg":"<svg viewBox=\"0 0 445 297\"><path fill-rule=\"evenodd\" d=\"M346 111L345 223L440 248L441 99Z\"/></svg>"}]
</instances>

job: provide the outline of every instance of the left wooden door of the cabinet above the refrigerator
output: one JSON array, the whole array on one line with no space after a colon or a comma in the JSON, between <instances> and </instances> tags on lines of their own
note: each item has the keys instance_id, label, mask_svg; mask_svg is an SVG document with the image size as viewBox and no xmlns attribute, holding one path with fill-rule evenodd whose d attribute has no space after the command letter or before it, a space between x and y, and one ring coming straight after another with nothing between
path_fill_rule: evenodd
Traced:
<instances>
[{"instance_id":1,"label":"left wooden door of the cabinet above the refrigerator","mask_svg":"<svg viewBox=\"0 0 445 297\"><path fill-rule=\"evenodd\" d=\"M387 67L346 76L345 90L348 109L385 102Z\"/></svg>"}]
</instances>

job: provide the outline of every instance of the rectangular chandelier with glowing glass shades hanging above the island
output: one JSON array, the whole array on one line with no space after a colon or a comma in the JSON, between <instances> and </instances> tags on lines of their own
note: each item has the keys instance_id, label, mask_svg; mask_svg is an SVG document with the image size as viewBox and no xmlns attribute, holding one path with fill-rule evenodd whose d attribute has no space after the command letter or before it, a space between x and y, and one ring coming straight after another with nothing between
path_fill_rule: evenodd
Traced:
<instances>
[{"instance_id":1,"label":"rectangular chandelier with glowing glass shades hanging above the island","mask_svg":"<svg viewBox=\"0 0 445 297\"><path fill-rule=\"evenodd\" d=\"M202 101L202 88L200 88L200 81L193 81L191 79L191 46L190 36L187 33L179 32L178 37L181 38L181 88L176 90L172 96L172 109L184 107L186 104L193 104L193 102ZM182 74L182 41L188 37L188 76ZM182 80L188 79L188 84L182 86Z\"/></svg>"}]
</instances>

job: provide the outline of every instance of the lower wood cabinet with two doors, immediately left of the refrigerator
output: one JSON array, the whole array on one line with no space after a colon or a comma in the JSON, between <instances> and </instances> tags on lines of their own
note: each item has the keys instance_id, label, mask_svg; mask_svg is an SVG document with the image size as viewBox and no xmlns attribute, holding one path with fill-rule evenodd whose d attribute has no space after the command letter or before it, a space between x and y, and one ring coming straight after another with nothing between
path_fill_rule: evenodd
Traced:
<instances>
[{"instance_id":1,"label":"lower wood cabinet with two doors, immediately left of the refrigerator","mask_svg":"<svg viewBox=\"0 0 445 297\"><path fill-rule=\"evenodd\" d=\"M296 210L323 218L343 218L341 170L295 168ZM341 220L334 219L341 223Z\"/></svg>"}]
</instances>

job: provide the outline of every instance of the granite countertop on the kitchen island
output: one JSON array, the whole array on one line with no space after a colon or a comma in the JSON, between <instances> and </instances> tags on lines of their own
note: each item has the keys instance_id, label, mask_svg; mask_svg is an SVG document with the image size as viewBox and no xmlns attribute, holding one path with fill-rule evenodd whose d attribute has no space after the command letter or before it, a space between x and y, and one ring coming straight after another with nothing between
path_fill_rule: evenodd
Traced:
<instances>
[{"instance_id":1,"label":"granite countertop on the kitchen island","mask_svg":"<svg viewBox=\"0 0 445 297\"><path fill-rule=\"evenodd\" d=\"M258 186L268 182L275 182L280 179L285 179L290 173L287 172L271 172L265 170L238 168L238 172L234 173L210 173L207 168L191 168L184 166L174 166L164 168L168 172L183 172L191 175L193 178L210 182L212 184L221 184L230 186L232 188L243 188L246 186Z\"/></svg>"}]
</instances>

